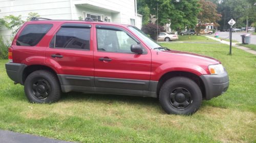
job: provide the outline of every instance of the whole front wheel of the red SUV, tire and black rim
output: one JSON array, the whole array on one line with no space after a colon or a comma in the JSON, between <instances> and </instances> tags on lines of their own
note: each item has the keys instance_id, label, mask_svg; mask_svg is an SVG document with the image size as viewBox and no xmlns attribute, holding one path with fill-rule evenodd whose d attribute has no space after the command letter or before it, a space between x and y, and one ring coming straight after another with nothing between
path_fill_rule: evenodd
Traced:
<instances>
[{"instance_id":1,"label":"whole front wheel of the red SUV, tire and black rim","mask_svg":"<svg viewBox=\"0 0 256 143\"><path fill-rule=\"evenodd\" d=\"M168 114L192 115L201 106L202 92L195 81L173 77L162 85L159 102Z\"/></svg>"}]
</instances>

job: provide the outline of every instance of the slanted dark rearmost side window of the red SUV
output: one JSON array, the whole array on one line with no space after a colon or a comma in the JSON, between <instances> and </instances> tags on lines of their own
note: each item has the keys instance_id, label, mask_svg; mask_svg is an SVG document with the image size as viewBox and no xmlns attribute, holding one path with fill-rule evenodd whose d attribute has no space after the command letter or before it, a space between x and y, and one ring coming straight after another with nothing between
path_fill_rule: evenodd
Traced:
<instances>
[{"instance_id":1,"label":"slanted dark rearmost side window of the red SUV","mask_svg":"<svg viewBox=\"0 0 256 143\"><path fill-rule=\"evenodd\" d=\"M28 24L19 34L17 46L35 46L51 29L52 24Z\"/></svg>"}]
</instances>

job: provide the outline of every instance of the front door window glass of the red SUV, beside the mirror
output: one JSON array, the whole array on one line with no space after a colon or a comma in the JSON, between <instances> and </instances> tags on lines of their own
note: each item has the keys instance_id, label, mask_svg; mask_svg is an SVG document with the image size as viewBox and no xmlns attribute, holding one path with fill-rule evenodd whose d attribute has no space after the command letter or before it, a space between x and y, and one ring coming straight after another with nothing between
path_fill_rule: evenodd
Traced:
<instances>
[{"instance_id":1,"label":"front door window glass of the red SUV, beside the mirror","mask_svg":"<svg viewBox=\"0 0 256 143\"><path fill-rule=\"evenodd\" d=\"M132 53L131 45L137 42L123 31L97 29L99 51Z\"/></svg>"}]
</instances>

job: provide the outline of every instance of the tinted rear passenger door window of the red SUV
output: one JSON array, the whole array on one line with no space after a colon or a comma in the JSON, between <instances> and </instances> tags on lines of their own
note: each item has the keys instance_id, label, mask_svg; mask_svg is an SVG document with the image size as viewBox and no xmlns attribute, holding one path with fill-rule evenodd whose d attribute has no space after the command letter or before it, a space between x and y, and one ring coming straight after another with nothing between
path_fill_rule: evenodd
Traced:
<instances>
[{"instance_id":1,"label":"tinted rear passenger door window of the red SUV","mask_svg":"<svg viewBox=\"0 0 256 143\"><path fill-rule=\"evenodd\" d=\"M90 50L90 28L61 27L50 47Z\"/></svg>"}]
</instances>

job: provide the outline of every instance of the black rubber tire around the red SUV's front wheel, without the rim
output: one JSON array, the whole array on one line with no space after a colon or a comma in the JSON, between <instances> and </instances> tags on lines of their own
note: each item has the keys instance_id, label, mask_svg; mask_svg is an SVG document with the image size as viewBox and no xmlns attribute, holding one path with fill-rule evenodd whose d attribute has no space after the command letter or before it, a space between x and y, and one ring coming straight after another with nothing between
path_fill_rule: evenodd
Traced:
<instances>
[{"instance_id":1,"label":"black rubber tire around the red SUV's front wheel, without the rim","mask_svg":"<svg viewBox=\"0 0 256 143\"><path fill-rule=\"evenodd\" d=\"M184 109L177 109L170 104L169 93L175 88L185 88L190 92L193 102L188 107ZM202 93L197 83L195 83L193 80L186 77L174 77L170 78L163 84L159 94L159 101L167 113L191 115L195 113L201 106Z\"/></svg>"}]
</instances>

